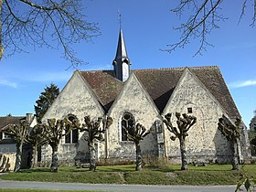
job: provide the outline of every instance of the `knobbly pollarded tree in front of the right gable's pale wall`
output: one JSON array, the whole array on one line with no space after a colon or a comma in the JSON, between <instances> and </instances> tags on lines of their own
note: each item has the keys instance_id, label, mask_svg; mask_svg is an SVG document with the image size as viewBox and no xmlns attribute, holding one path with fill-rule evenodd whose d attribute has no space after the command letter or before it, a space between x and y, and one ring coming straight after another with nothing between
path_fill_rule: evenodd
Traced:
<instances>
[{"instance_id":1,"label":"knobbly pollarded tree in front of the right gable's pale wall","mask_svg":"<svg viewBox=\"0 0 256 192\"><path fill-rule=\"evenodd\" d=\"M164 123L170 133L174 133L175 136L171 136L171 140L175 141L176 138L179 140L180 154L181 154L181 170L187 170L187 152L185 139L188 136L189 129L197 123L197 117L187 115L183 113L182 116L179 112L176 112L176 125L173 126L171 122L172 113L165 114Z\"/></svg>"}]
</instances>

